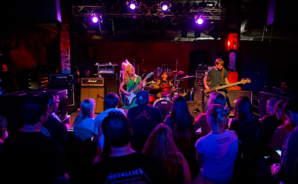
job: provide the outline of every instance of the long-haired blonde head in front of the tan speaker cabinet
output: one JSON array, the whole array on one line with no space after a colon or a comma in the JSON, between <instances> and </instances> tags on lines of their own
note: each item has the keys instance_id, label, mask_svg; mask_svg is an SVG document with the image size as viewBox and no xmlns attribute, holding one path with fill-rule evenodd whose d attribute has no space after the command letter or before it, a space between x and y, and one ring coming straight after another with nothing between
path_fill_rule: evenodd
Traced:
<instances>
[{"instance_id":1,"label":"long-haired blonde head in front of the tan speaker cabinet","mask_svg":"<svg viewBox=\"0 0 298 184\"><path fill-rule=\"evenodd\" d=\"M81 101L79 111L74 118L74 125L79 123L83 118L94 118L94 107L96 105L94 98L85 98Z\"/></svg>"}]
</instances>

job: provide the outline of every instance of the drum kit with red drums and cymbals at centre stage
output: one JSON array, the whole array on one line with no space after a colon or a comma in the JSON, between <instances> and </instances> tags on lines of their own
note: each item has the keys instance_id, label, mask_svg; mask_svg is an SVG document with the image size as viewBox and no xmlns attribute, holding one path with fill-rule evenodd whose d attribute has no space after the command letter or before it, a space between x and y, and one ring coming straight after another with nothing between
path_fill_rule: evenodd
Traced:
<instances>
[{"instance_id":1,"label":"drum kit with red drums and cymbals at centre stage","mask_svg":"<svg viewBox=\"0 0 298 184\"><path fill-rule=\"evenodd\" d=\"M177 63L177 61L176 61L176 63ZM149 92L149 105L159 107L159 109L163 115L163 118L165 118L165 116L170 114L170 112L171 112L171 108L173 106L173 103L172 103L173 97L177 94L181 94L183 96L185 96L187 94L186 93L187 89L178 88L179 83L181 81L187 80L189 78L193 78L195 76L186 75L185 77L178 78L178 76L184 74L184 72L178 71L177 65L176 65L176 70L168 69L167 64L163 64L162 66L166 67L166 68L157 67L154 70L154 78L153 78L154 81L150 81L143 86L144 86L144 90L147 90ZM173 89L171 89L169 85L162 85L160 87L160 89L154 88L156 81L161 79L161 74L164 71L167 73L168 79L170 81L174 81ZM158 92L160 92L161 98L156 99ZM191 91L191 94L192 94L192 91Z\"/></svg>"}]
</instances>

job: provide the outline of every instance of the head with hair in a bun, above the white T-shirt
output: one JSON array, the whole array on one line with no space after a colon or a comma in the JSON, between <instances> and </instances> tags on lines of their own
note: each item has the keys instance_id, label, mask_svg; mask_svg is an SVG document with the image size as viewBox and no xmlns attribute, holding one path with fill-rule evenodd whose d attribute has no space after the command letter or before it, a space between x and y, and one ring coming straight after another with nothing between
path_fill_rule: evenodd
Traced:
<instances>
[{"instance_id":1,"label":"head with hair in a bun, above the white T-shirt","mask_svg":"<svg viewBox=\"0 0 298 184\"><path fill-rule=\"evenodd\" d=\"M228 121L229 108L221 104L212 104L207 110L207 122L210 125L212 132L220 133Z\"/></svg>"}]
</instances>

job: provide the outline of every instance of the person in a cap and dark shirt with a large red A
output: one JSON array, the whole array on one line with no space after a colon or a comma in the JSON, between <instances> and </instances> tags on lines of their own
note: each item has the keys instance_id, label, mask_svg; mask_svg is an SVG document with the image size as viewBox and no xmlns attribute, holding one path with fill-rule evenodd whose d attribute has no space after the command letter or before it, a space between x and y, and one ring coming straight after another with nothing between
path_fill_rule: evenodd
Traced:
<instances>
[{"instance_id":1,"label":"person in a cap and dark shirt with a large red A","mask_svg":"<svg viewBox=\"0 0 298 184\"><path fill-rule=\"evenodd\" d=\"M138 106L131 107L127 117L133 129L131 146L133 150L141 152L151 131L163 122L163 117L158 107L148 105L148 91L138 92L135 102Z\"/></svg>"}]
</instances>

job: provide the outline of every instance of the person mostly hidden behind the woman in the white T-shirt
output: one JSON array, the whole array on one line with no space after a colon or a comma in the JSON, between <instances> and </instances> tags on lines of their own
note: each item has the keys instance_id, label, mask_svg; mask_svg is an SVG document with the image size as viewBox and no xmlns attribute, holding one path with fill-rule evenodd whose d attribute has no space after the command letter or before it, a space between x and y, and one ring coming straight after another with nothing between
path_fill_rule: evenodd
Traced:
<instances>
[{"instance_id":1,"label":"person mostly hidden behind the woman in the white T-shirt","mask_svg":"<svg viewBox=\"0 0 298 184\"><path fill-rule=\"evenodd\" d=\"M220 92L211 92L208 106L212 104L221 104L225 106L226 100L225 100L224 94ZM197 130L198 128L201 128L201 136L205 136L211 132L211 127L208 124L206 117L207 117L207 112L201 113L197 116L194 122L195 130Z\"/></svg>"}]
</instances>

